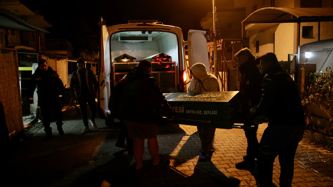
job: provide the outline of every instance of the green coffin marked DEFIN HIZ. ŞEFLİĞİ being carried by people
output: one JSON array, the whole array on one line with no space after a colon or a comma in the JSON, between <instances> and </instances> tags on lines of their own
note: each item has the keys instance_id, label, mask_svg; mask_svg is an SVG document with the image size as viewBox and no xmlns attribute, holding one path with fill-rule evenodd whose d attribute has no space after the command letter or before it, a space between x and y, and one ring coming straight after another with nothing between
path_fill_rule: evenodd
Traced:
<instances>
[{"instance_id":1,"label":"green coffin marked DEFIN HIZ. \u015eEFL\u0130\u011e\u0130 being carried by people","mask_svg":"<svg viewBox=\"0 0 333 187\"><path fill-rule=\"evenodd\" d=\"M243 128L244 95L235 92L166 93L175 120L171 123L215 128Z\"/></svg>"}]
</instances>

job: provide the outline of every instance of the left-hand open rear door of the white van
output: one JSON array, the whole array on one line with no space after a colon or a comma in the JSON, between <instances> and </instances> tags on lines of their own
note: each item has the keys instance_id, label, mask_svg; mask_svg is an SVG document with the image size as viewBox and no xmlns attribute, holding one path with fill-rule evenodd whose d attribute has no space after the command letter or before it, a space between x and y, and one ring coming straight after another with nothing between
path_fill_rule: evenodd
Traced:
<instances>
[{"instance_id":1,"label":"left-hand open rear door of the white van","mask_svg":"<svg viewBox=\"0 0 333 187\"><path fill-rule=\"evenodd\" d=\"M98 99L98 114L101 119L110 113L108 108L108 103L110 99L110 45L109 33L105 25L105 21L101 17L100 20L100 71L98 75L98 83L100 86L99 92L97 94Z\"/></svg>"}]
</instances>

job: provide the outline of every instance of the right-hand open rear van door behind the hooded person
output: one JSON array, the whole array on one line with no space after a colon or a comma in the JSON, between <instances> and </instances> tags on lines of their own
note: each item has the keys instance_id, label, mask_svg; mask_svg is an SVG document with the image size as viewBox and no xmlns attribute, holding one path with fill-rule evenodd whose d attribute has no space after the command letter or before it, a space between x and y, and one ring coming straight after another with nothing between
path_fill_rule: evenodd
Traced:
<instances>
[{"instance_id":1,"label":"right-hand open rear van door behind the hooded person","mask_svg":"<svg viewBox=\"0 0 333 187\"><path fill-rule=\"evenodd\" d=\"M210 73L206 31L189 30L187 34L188 69L196 63L202 63ZM187 71L189 73L189 71Z\"/></svg>"}]
</instances>

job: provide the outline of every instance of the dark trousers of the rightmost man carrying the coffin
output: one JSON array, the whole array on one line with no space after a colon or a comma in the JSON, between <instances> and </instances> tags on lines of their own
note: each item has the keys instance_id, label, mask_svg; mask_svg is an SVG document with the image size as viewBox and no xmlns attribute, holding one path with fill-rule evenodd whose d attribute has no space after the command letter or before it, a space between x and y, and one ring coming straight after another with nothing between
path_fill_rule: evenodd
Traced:
<instances>
[{"instance_id":1,"label":"dark trousers of the rightmost man carrying the coffin","mask_svg":"<svg viewBox=\"0 0 333 187\"><path fill-rule=\"evenodd\" d=\"M260 187L273 185L273 163L277 155L279 155L281 167L280 187L291 187L295 152L303 134L303 125L276 125L268 126L265 129L260 141L260 151L257 158Z\"/></svg>"}]
</instances>

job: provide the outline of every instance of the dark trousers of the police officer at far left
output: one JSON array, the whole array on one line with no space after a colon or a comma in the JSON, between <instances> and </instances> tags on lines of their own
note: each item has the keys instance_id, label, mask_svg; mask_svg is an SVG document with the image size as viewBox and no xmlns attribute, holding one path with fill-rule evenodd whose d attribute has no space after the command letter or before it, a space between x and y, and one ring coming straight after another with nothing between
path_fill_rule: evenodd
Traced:
<instances>
[{"instance_id":1,"label":"dark trousers of the police officer at far left","mask_svg":"<svg viewBox=\"0 0 333 187\"><path fill-rule=\"evenodd\" d=\"M51 115L52 111L56 117L56 124L61 127L64 123L62 122L61 104L59 98L41 98L38 97L38 103L41 107L42 120L45 132L51 132Z\"/></svg>"}]
</instances>

